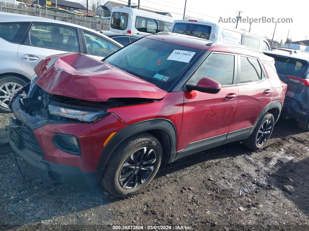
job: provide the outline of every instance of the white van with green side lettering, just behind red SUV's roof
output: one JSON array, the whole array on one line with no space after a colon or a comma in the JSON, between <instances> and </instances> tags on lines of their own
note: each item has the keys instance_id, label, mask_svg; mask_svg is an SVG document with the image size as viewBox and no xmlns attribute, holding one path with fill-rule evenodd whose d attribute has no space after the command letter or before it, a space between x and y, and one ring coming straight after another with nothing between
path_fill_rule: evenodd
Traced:
<instances>
[{"instance_id":1,"label":"white van with green side lettering, just behind red SUV's roof","mask_svg":"<svg viewBox=\"0 0 309 231\"><path fill-rule=\"evenodd\" d=\"M197 20L175 20L171 32L190 35L210 41L242 44L261 51L270 50L267 39L236 28L224 27L222 24L218 23Z\"/></svg>"}]
</instances>

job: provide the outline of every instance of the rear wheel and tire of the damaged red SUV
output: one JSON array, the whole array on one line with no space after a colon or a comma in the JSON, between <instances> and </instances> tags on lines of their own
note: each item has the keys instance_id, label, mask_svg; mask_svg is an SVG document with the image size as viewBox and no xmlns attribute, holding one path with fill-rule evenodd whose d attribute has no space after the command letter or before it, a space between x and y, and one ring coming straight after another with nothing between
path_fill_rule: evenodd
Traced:
<instances>
[{"instance_id":1,"label":"rear wheel and tire of the damaged red SUV","mask_svg":"<svg viewBox=\"0 0 309 231\"><path fill-rule=\"evenodd\" d=\"M263 148L273 132L275 119L271 113L265 113L257 123L249 138L243 140L243 145L254 151Z\"/></svg>"}]
</instances>

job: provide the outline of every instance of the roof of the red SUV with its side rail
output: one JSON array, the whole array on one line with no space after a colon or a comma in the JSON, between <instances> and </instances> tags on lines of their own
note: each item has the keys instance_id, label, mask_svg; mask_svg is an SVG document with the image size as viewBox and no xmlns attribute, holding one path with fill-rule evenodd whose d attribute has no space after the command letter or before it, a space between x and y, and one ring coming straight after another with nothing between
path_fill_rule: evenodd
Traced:
<instances>
[{"instance_id":1,"label":"roof of the red SUV with its side rail","mask_svg":"<svg viewBox=\"0 0 309 231\"><path fill-rule=\"evenodd\" d=\"M172 43L184 47L191 47L199 50L227 52L227 53L253 56L267 62L271 62L273 60L273 58L264 55L263 52L261 52L260 50L246 47L244 45L237 45L218 41L214 42L206 39L200 39L177 33L159 32L154 35L147 35L145 36L145 38L164 41L166 43Z\"/></svg>"}]
</instances>

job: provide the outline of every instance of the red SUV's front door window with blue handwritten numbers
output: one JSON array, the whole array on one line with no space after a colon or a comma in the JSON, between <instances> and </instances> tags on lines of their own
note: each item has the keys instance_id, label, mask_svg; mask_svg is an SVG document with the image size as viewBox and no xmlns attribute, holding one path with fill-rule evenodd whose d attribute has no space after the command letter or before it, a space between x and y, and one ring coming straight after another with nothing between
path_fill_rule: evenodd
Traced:
<instances>
[{"instance_id":1,"label":"red SUV's front door window with blue handwritten numbers","mask_svg":"<svg viewBox=\"0 0 309 231\"><path fill-rule=\"evenodd\" d=\"M216 80L221 85L233 84L234 55L212 53L197 69L196 83L204 77Z\"/></svg>"}]
</instances>

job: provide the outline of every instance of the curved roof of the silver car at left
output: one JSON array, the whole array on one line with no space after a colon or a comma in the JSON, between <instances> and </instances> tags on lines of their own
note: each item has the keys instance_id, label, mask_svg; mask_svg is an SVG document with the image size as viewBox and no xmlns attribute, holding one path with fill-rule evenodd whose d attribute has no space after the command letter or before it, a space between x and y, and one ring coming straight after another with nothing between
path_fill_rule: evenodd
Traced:
<instances>
[{"instance_id":1,"label":"curved roof of the silver car at left","mask_svg":"<svg viewBox=\"0 0 309 231\"><path fill-rule=\"evenodd\" d=\"M6 12L0 12L0 22L8 23L8 22L42 22L42 23L57 23L57 24L62 24L66 26L71 26L71 27L78 27L87 31L91 31L95 34L99 34L107 39L111 39L108 36L99 33L98 31L89 29L87 27L79 26L77 24L73 23L67 23L59 20L54 20L54 19L46 19L46 18L41 18L41 17L36 17L36 16L30 16L30 15L23 15L23 14L14 14L14 13L6 13ZM113 40L114 43L120 45L123 47L120 43L117 43L116 41Z\"/></svg>"}]
</instances>

